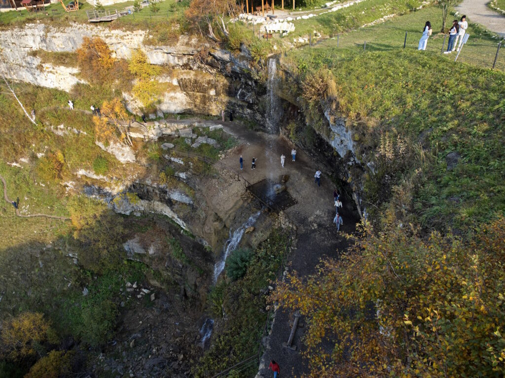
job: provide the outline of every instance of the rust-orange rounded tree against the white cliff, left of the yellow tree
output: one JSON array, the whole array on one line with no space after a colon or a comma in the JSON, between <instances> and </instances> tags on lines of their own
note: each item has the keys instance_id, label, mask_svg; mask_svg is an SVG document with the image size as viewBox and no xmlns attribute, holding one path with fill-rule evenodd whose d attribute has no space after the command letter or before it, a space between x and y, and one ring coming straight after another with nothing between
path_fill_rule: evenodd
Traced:
<instances>
[{"instance_id":1,"label":"rust-orange rounded tree against the white cliff, left of the yellow tree","mask_svg":"<svg viewBox=\"0 0 505 378\"><path fill-rule=\"evenodd\" d=\"M77 64L81 75L92 84L111 81L115 60L112 51L102 38L84 37L77 49Z\"/></svg>"}]
</instances>

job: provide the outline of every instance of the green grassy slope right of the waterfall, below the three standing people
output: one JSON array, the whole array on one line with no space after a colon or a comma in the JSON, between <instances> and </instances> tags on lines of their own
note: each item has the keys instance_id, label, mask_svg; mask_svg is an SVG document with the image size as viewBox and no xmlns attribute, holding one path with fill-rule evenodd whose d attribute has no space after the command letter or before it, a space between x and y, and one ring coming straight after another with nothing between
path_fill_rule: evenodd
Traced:
<instances>
[{"instance_id":1,"label":"green grassy slope right of the waterfall, below the three standing people","mask_svg":"<svg viewBox=\"0 0 505 378\"><path fill-rule=\"evenodd\" d=\"M416 214L424 224L464 228L505 211L505 75L455 64L437 49L417 51L413 39L405 50L391 48L402 42L406 26L422 26L420 21L436 16L435 10L345 34L340 43L346 48L336 49L336 41L328 40L293 51L285 62L300 72L329 67L340 112L378 119L370 132L394 129L413 141L428 133L436 159L414 199ZM382 43L358 52L354 44L372 34ZM462 159L446 171L451 151Z\"/></svg>"}]
</instances>

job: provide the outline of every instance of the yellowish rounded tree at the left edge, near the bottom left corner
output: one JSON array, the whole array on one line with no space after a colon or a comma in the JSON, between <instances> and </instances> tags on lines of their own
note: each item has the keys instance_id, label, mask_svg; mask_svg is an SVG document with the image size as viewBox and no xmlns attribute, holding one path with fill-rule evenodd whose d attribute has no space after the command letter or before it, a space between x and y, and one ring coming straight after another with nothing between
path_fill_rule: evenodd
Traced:
<instances>
[{"instance_id":1,"label":"yellowish rounded tree at the left edge, near the bottom left corner","mask_svg":"<svg viewBox=\"0 0 505 378\"><path fill-rule=\"evenodd\" d=\"M12 360L35 354L35 346L47 340L49 323L40 312L24 312L2 325L2 355Z\"/></svg>"}]
</instances>

